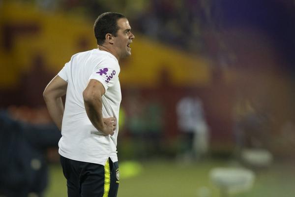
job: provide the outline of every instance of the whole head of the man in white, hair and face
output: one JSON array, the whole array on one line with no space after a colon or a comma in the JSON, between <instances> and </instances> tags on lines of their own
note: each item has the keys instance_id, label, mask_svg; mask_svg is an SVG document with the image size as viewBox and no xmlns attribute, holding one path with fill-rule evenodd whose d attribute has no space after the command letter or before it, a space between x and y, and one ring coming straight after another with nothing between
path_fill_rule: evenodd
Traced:
<instances>
[{"instance_id":1,"label":"whole head of the man in white, hair and face","mask_svg":"<svg viewBox=\"0 0 295 197\"><path fill-rule=\"evenodd\" d=\"M106 12L98 16L94 23L94 34L99 46L103 46L118 58L131 55L129 44L134 35L127 18L116 12Z\"/></svg>"}]
</instances>

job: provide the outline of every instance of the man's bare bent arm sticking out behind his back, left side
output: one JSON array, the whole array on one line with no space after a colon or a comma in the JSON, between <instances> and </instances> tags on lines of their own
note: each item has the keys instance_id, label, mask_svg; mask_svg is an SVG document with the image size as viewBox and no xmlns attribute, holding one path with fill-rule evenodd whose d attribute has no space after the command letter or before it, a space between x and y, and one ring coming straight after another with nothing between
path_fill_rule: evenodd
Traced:
<instances>
[{"instance_id":1,"label":"man's bare bent arm sticking out behind his back, left side","mask_svg":"<svg viewBox=\"0 0 295 197\"><path fill-rule=\"evenodd\" d=\"M61 97L66 94L66 88L67 82L57 75L51 80L51 82L49 82L43 92L43 98L47 105L49 115L59 128L59 131L61 131L61 122L64 111Z\"/></svg>"}]
</instances>

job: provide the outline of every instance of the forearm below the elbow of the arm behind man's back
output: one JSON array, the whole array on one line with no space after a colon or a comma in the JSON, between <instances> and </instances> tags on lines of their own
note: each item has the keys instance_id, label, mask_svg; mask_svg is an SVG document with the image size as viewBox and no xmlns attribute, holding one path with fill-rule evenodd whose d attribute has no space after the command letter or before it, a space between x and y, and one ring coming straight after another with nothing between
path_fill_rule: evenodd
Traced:
<instances>
[{"instance_id":1,"label":"forearm below the elbow of the arm behind man's back","mask_svg":"<svg viewBox=\"0 0 295 197\"><path fill-rule=\"evenodd\" d=\"M54 99L45 99L45 103L49 112L49 115L51 116L53 122L56 124L56 126L59 128L59 131L61 131L61 123L62 123L62 117L63 117L63 103L61 97Z\"/></svg>"}]
</instances>

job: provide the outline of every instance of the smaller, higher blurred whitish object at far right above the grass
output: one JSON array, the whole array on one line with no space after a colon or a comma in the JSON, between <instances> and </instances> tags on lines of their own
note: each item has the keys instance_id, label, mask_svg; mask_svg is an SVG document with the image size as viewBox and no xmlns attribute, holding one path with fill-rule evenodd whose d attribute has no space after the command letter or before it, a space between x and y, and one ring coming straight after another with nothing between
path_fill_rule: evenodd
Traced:
<instances>
[{"instance_id":1,"label":"smaller, higher blurred whitish object at far right above the grass","mask_svg":"<svg viewBox=\"0 0 295 197\"><path fill-rule=\"evenodd\" d=\"M244 149L241 158L253 167L267 167L273 160L271 153L265 149Z\"/></svg>"}]
</instances>

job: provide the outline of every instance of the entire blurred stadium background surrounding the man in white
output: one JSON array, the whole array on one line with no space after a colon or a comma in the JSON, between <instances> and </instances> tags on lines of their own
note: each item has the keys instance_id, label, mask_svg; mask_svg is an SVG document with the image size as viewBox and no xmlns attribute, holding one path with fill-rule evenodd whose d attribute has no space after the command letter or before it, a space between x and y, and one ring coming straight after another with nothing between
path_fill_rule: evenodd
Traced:
<instances>
[{"instance_id":1,"label":"entire blurred stadium background surrounding the man in white","mask_svg":"<svg viewBox=\"0 0 295 197\"><path fill-rule=\"evenodd\" d=\"M294 0L0 0L0 196L66 196L42 92L107 11L135 34L119 197L295 196Z\"/></svg>"}]
</instances>

